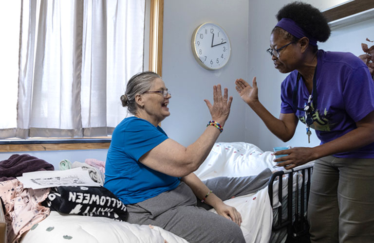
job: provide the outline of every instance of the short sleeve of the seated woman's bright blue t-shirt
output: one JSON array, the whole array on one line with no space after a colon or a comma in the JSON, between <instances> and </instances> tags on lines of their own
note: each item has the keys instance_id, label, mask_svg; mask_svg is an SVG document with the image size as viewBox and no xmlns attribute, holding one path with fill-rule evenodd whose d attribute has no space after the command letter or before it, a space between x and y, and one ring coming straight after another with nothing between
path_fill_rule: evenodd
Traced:
<instances>
[{"instance_id":1,"label":"short sleeve of the seated woman's bright blue t-shirt","mask_svg":"<svg viewBox=\"0 0 374 243\"><path fill-rule=\"evenodd\" d=\"M150 122L137 119L129 122L124 133L125 153L138 161L141 156L168 139L162 129Z\"/></svg>"}]
</instances>

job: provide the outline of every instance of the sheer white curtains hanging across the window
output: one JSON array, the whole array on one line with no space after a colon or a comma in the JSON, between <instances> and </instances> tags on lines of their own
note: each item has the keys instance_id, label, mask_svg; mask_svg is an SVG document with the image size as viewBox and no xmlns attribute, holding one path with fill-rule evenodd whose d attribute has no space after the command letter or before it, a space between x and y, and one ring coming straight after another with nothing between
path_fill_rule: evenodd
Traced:
<instances>
[{"instance_id":1,"label":"sheer white curtains hanging across the window","mask_svg":"<svg viewBox=\"0 0 374 243\"><path fill-rule=\"evenodd\" d=\"M0 138L110 135L143 70L144 19L145 0L22 0L17 127Z\"/></svg>"}]
</instances>

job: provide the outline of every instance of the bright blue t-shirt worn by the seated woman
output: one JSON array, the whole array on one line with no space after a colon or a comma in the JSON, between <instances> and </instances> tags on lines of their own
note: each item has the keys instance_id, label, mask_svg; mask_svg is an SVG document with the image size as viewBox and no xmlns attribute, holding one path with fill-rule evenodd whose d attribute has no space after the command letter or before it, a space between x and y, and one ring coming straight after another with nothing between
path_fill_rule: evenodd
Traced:
<instances>
[{"instance_id":1,"label":"bright blue t-shirt worn by the seated woman","mask_svg":"<svg viewBox=\"0 0 374 243\"><path fill-rule=\"evenodd\" d=\"M134 204L175 189L180 178L150 169L139 158L168 139L161 127L129 117L113 131L105 162L104 187L124 204Z\"/></svg>"}]
</instances>

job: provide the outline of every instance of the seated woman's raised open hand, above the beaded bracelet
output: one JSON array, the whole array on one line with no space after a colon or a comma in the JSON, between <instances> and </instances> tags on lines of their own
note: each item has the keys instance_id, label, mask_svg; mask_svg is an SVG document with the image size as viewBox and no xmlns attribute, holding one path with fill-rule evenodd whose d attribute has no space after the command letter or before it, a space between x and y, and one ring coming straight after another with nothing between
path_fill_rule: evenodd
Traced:
<instances>
[{"instance_id":1,"label":"seated woman's raised open hand, above the beaded bracelet","mask_svg":"<svg viewBox=\"0 0 374 243\"><path fill-rule=\"evenodd\" d=\"M222 96L221 85L213 86L213 105L206 99L204 101L208 106L212 120L224 125L224 122L230 114L232 103L232 96L228 98L227 88L224 88L224 95Z\"/></svg>"}]
</instances>

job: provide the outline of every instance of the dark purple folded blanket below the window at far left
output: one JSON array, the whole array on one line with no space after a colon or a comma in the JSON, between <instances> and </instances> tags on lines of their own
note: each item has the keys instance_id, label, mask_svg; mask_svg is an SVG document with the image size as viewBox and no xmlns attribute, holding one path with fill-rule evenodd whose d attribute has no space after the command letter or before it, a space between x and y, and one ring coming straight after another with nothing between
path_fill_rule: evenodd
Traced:
<instances>
[{"instance_id":1,"label":"dark purple folded blanket below the window at far left","mask_svg":"<svg viewBox=\"0 0 374 243\"><path fill-rule=\"evenodd\" d=\"M27 154L15 154L0 161L0 181L16 179L16 176L21 176L24 172L54 170L55 167L43 159Z\"/></svg>"}]
</instances>

